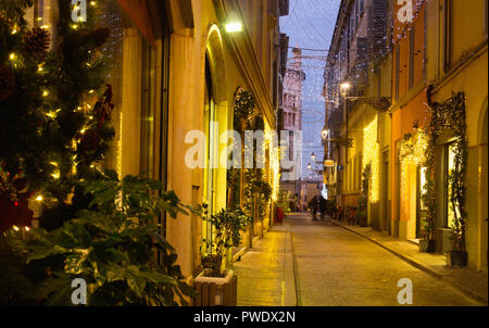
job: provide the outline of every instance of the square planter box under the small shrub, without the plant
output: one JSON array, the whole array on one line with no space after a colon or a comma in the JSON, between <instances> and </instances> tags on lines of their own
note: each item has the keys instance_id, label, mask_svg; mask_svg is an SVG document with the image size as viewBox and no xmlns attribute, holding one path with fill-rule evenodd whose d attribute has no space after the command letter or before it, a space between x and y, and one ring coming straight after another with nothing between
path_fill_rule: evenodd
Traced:
<instances>
[{"instance_id":1,"label":"square planter box under the small shrub, without the plant","mask_svg":"<svg viewBox=\"0 0 489 328\"><path fill-rule=\"evenodd\" d=\"M205 277L203 270L195 280L198 292L196 306L237 306L238 276L233 270L225 270L226 277Z\"/></svg>"}]
</instances>

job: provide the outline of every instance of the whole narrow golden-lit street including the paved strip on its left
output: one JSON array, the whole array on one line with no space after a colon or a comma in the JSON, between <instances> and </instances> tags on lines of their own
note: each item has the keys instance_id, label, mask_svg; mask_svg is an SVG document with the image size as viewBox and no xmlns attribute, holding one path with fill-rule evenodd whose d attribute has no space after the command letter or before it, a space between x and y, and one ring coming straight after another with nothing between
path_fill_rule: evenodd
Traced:
<instances>
[{"instance_id":1,"label":"whole narrow golden-lit street including the paved strip on its left","mask_svg":"<svg viewBox=\"0 0 489 328\"><path fill-rule=\"evenodd\" d=\"M351 231L312 222L308 213L274 227L235 269L238 305L287 305L294 289L302 306L399 306L402 278L413 282L414 306L480 305Z\"/></svg>"}]
</instances>

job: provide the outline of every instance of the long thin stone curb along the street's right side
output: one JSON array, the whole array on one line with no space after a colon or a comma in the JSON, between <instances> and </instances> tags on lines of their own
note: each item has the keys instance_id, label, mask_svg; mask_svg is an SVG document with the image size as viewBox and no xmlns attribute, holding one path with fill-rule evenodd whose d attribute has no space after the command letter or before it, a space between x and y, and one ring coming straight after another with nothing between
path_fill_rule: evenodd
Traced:
<instances>
[{"instance_id":1,"label":"long thin stone curb along the street's right side","mask_svg":"<svg viewBox=\"0 0 489 328\"><path fill-rule=\"evenodd\" d=\"M337 223L336 220L334 220L334 219L331 219L331 223L333 223L334 225L340 227L340 228L343 228L343 229L346 229L346 230L348 230L348 231L350 231L350 232L353 232L353 234L355 234L355 235L358 235L358 236L360 236L360 237L362 237L362 238L365 238L365 239L369 240L371 242L377 244L378 247L385 249L386 251L388 251L388 252L394 254L396 256L398 256L398 257L401 258L402 261L404 261L404 262L411 264L412 266L414 266L414 267L421 269L422 272L424 272L424 273L430 275L431 277L434 277L434 278L436 278L436 279L438 279L438 280L440 280L440 281L443 281L443 282L446 282L446 283L448 283L448 285L454 287L455 289L457 289L459 291L461 291L462 293L464 293L466 297L471 298L472 300L474 300L474 301L476 301L476 302L479 302L479 303L481 303L482 305L486 305L486 306L488 305L488 301L487 301L487 299L486 299L485 297L481 297L481 295L479 295L479 294L477 294L477 293L474 293L473 291L471 291L471 290L468 290L467 288L461 286L460 283L453 281L452 279L447 279L447 278L444 278L443 275L440 275L440 274L438 274L437 272L435 272L435 270L432 270L432 269L430 269L430 268L428 268L428 267L426 267L426 266L419 264L418 262L416 262L416 261L414 261L414 260L408 257L406 255L403 255L403 254L401 254L400 252L398 252L398 251L396 251L396 250L393 250L393 249L391 249L391 248L389 248L389 247L383 244L381 242L375 240L374 238L371 238L371 237L368 237L368 236L362 235L362 234L360 234L360 232L358 232L358 231L354 231L354 230L352 230L352 229L350 229L350 228L348 228L348 227L346 227L346 226L342 226L342 225L338 224L338 223Z\"/></svg>"}]
</instances>

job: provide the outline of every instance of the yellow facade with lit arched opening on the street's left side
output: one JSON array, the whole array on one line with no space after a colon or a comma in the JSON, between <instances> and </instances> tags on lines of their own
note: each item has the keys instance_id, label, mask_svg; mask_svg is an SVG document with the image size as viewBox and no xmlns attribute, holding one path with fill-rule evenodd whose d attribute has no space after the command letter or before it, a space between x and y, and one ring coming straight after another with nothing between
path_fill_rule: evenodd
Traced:
<instances>
[{"instance_id":1,"label":"yellow facade with lit arched opening on the street's left side","mask_svg":"<svg viewBox=\"0 0 489 328\"><path fill-rule=\"evenodd\" d=\"M116 135L103 166L121 176L147 173L185 204L206 203L211 213L226 209L227 169L218 164L229 140L220 137L234 129L238 89L253 93L254 114L263 116L265 130L276 129L278 20L288 13L288 1L106 0L88 5L98 5L101 24L112 29L106 83L114 92ZM27 18L54 33L57 15L57 0L37 0ZM228 26L233 23L235 29ZM203 141L189 138L191 131L202 133ZM278 192L278 156L267 144L265 176ZM203 167L186 163L196 146L204 154ZM268 210L254 231L266 232L271 215ZM195 215L162 216L160 223L184 275L199 273L202 240L212 238L212 228Z\"/></svg>"}]
</instances>

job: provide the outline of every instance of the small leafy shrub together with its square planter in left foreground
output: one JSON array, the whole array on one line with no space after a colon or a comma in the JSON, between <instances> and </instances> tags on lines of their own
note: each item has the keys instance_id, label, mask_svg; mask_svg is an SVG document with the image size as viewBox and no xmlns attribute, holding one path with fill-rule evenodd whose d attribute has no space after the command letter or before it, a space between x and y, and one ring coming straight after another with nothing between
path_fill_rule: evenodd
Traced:
<instances>
[{"instance_id":1,"label":"small leafy shrub together with its square planter in left foreground","mask_svg":"<svg viewBox=\"0 0 489 328\"><path fill-rule=\"evenodd\" d=\"M196 305L236 306L237 276L231 269L224 269L228 250L241 242L241 231L252 222L241 209L222 210L208 218L213 228L212 240L204 240L208 254L202 256L202 273L197 276L195 287L199 295Z\"/></svg>"}]
</instances>

